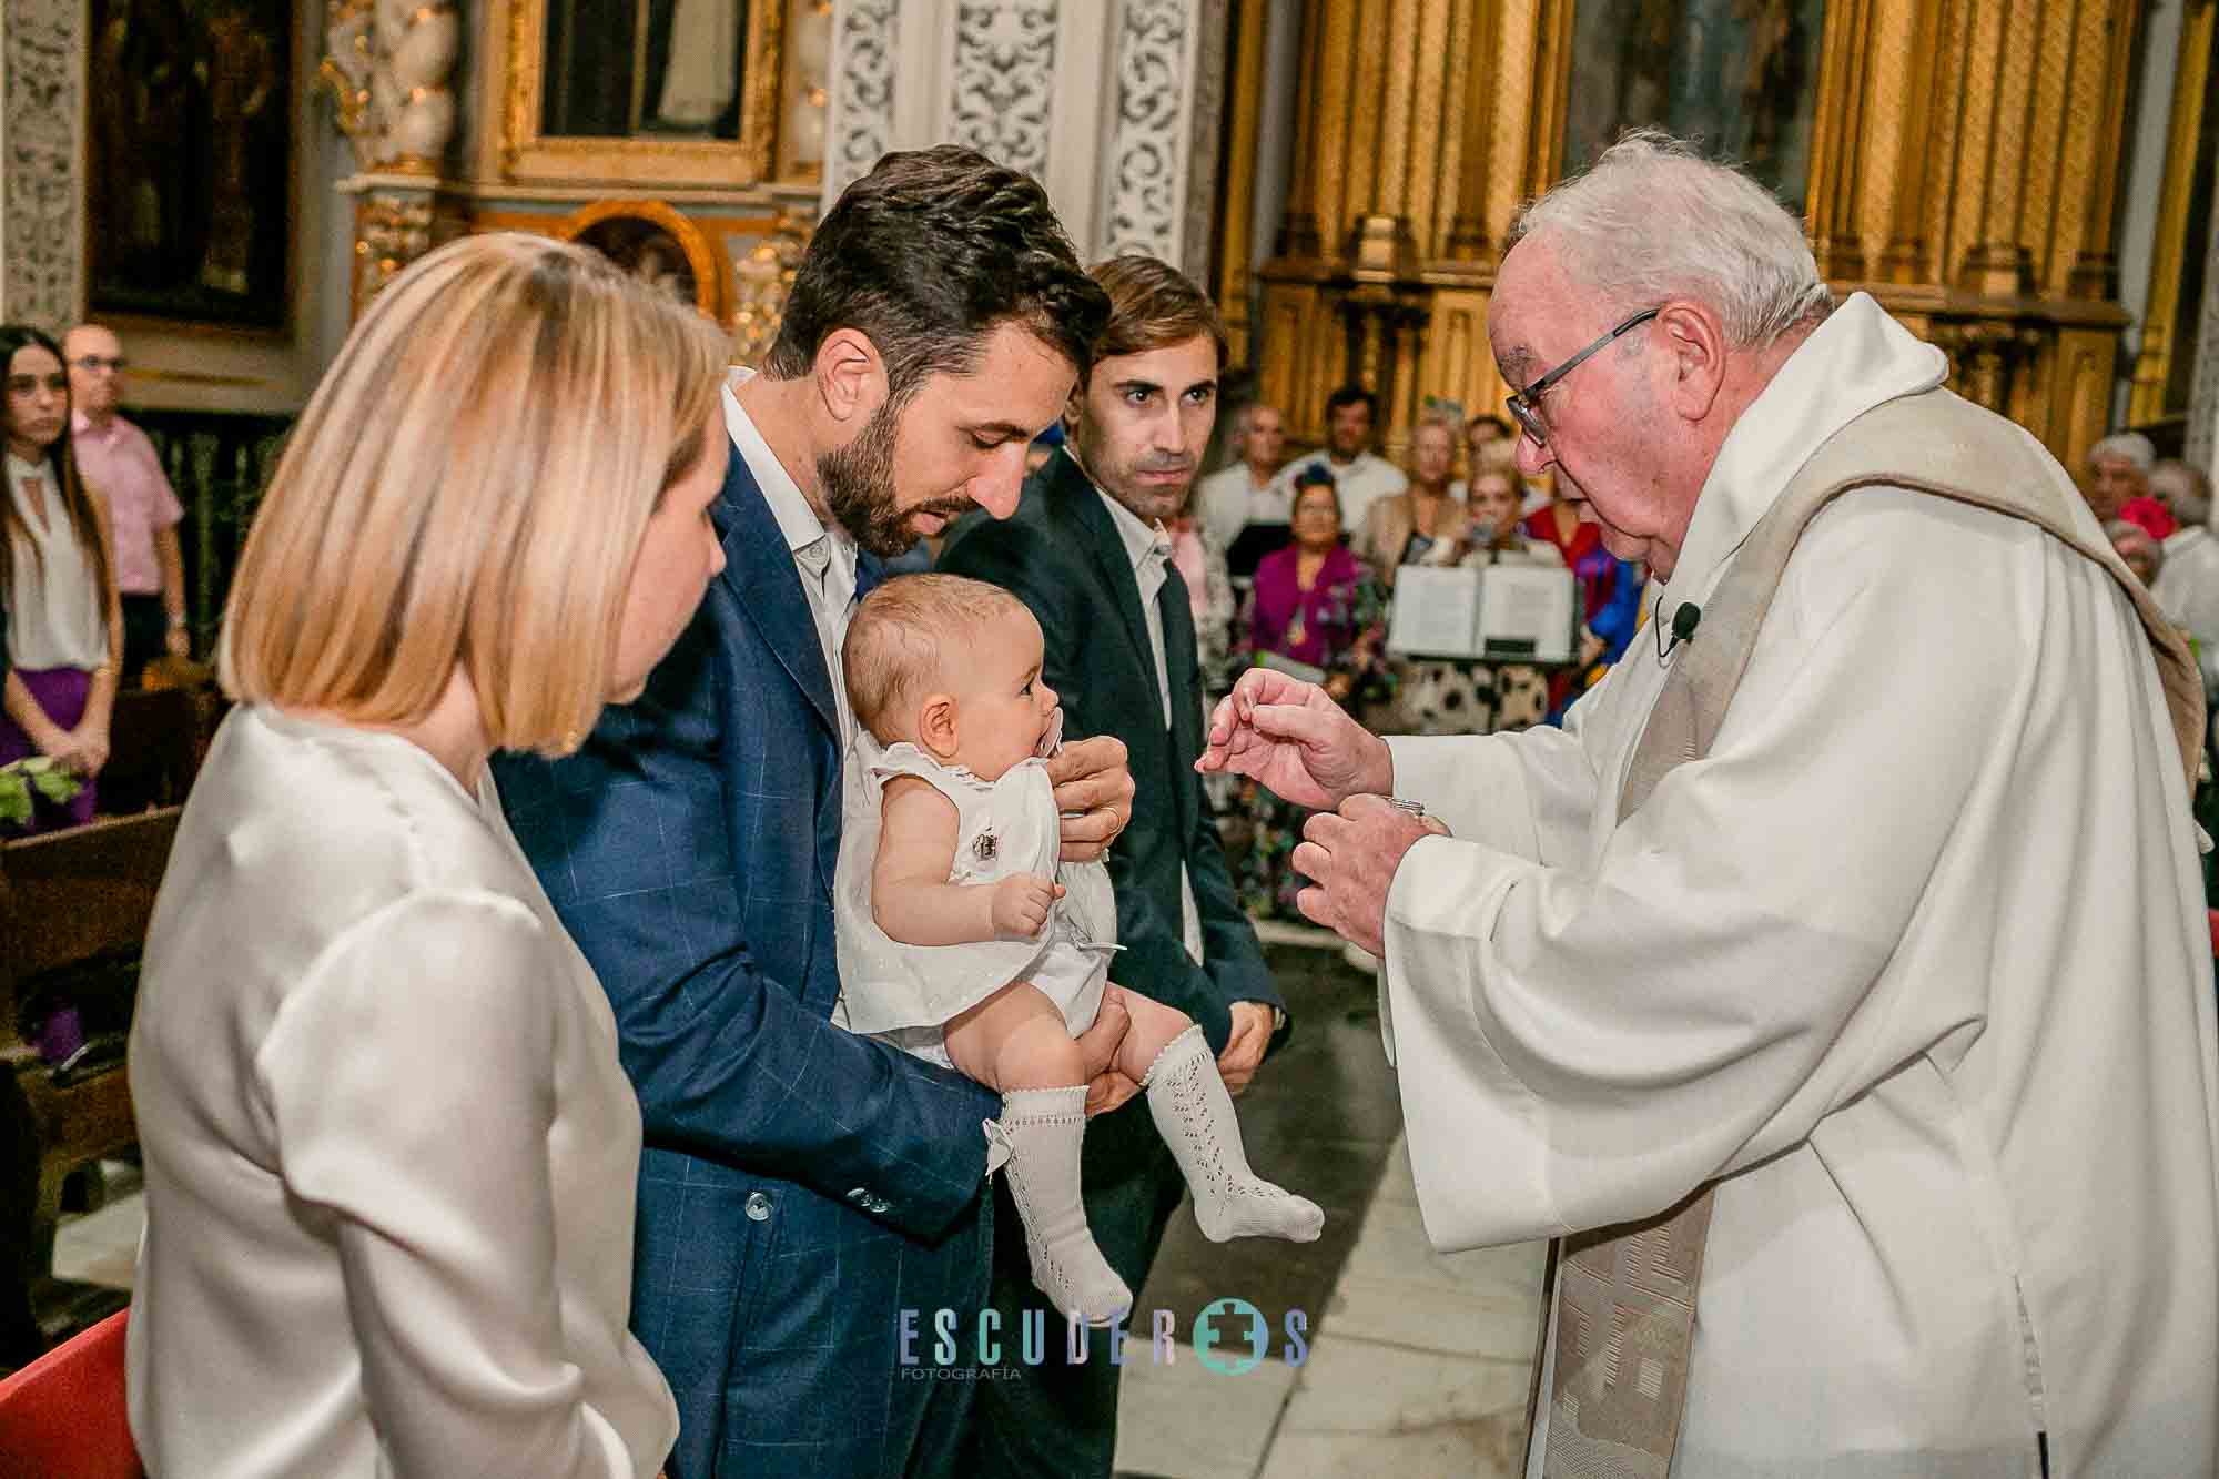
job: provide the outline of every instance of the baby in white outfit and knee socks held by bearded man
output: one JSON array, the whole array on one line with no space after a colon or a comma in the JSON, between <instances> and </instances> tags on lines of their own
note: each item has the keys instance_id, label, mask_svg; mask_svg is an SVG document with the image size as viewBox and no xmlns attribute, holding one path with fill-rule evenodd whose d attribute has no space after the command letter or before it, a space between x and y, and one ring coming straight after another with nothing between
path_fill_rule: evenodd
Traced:
<instances>
[{"instance_id":1,"label":"baby in white outfit and knee socks held by bearded man","mask_svg":"<svg viewBox=\"0 0 2219 1479\"><path fill-rule=\"evenodd\" d=\"M1087 1070L1072 1037L1105 995L1132 1017L1116 1068L1147 1088L1203 1232L1318 1237L1316 1204L1249 1170L1203 1028L1110 984L1110 873L1056 862L1045 759L1063 711L1032 613L976 580L901 575L857 611L843 655L861 731L834 888L845 1024L1001 1095L987 1135L1041 1292L1090 1324L1132 1308L1078 1201Z\"/></svg>"}]
</instances>

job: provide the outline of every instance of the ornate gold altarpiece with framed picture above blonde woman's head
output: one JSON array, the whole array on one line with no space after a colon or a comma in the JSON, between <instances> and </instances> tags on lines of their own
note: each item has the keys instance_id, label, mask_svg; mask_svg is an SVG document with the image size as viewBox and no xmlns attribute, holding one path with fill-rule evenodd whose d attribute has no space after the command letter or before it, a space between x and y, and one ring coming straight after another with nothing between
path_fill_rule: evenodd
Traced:
<instances>
[{"instance_id":1,"label":"ornate gold altarpiece with framed picture above blonde woman's head","mask_svg":"<svg viewBox=\"0 0 2219 1479\"><path fill-rule=\"evenodd\" d=\"M561 127L570 91L617 62L646 62L650 20L679 24L670 0L326 4L324 80L362 162L342 184L355 200L357 315L444 240L535 231L584 240L692 302L730 329L737 362L768 351L817 220L832 0L692 7L719 22L730 64L706 73L708 102L690 129L641 127L659 91L646 78L630 84L624 122ZM448 27L442 44L417 44L433 22ZM468 44L455 47L457 29ZM657 47L672 58L663 82L686 47L677 36ZM459 138L457 51L479 98Z\"/></svg>"}]
</instances>

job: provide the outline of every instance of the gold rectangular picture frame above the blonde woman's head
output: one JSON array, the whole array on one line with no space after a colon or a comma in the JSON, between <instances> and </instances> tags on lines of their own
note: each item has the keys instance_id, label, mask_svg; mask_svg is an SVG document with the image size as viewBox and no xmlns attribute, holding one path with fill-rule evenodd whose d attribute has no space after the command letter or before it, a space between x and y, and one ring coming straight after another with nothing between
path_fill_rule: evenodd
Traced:
<instances>
[{"instance_id":1,"label":"gold rectangular picture frame above the blonde woman's head","mask_svg":"<svg viewBox=\"0 0 2219 1479\"><path fill-rule=\"evenodd\" d=\"M550 135L546 115L548 0L506 0L508 60L501 175L519 184L692 184L732 189L770 180L783 89L786 4L754 0L746 16L739 138Z\"/></svg>"}]
</instances>

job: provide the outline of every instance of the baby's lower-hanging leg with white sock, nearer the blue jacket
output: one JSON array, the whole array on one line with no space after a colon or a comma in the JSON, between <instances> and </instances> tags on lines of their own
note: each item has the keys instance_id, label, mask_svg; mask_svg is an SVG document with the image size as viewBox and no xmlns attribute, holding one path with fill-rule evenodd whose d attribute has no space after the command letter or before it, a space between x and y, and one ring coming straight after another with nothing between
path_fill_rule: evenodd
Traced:
<instances>
[{"instance_id":1,"label":"baby's lower-hanging leg with white sock, nearer the blue jacket","mask_svg":"<svg viewBox=\"0 0 2219 1479\"><path fill-rule=\"evenodd\" d=\"M1032 982L1012 982L948 1024L948 1057L1001 1093L1010 1199L1025 1224L1032 1281L1065 1315L1110 1324L1132 1290L1087 1228L1078 1146L1087 1128L1087 1070L1063 1010Z\"/></svg>"}]
</instances>

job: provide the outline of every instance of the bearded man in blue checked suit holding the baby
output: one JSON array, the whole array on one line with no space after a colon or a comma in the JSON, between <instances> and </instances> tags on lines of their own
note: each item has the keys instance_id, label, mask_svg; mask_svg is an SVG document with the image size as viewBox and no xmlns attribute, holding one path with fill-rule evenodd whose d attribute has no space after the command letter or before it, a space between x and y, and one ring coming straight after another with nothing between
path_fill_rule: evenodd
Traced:
<instances>
[{"instance_id":1,"label":"bearded man in blue checked suit holding the baby","mask_svg":"<svg viewBox=\"0 0 2219 1479\"><path fill-rule=\"evenodd\" d=\"M1001 1106L832 1024L839 651L881 557L1016 506L1101 320L1036 182L888 155L819 227L766 371L726 386L728 564L690 631L577 755L499 768L639 1090L632 1328L677 1392L670 1479L952 1463L972 1384L901 1370L903 1310L930 1348L939 1308L967 1324L985 1299ZM1065 857L1098 857L1129 817L1123 748L1050 775Z\"/></svg>"}]
</instances>

